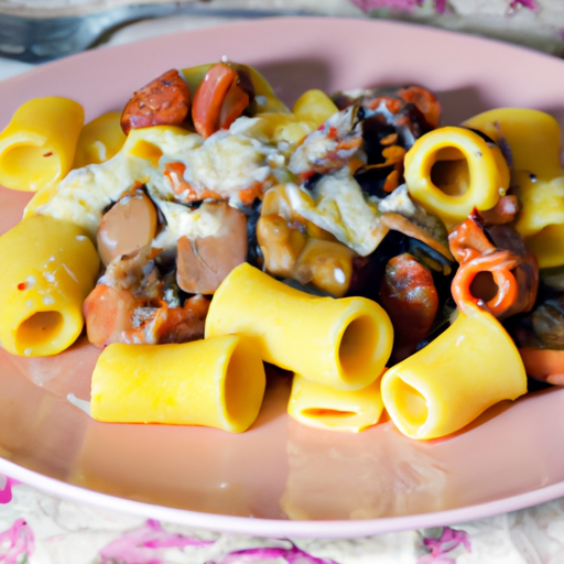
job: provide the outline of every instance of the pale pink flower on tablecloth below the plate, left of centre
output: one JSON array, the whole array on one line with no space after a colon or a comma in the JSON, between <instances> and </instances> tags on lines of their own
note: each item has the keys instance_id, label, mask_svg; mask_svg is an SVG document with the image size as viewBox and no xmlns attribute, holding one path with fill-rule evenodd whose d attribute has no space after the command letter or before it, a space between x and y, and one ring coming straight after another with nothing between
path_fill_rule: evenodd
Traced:
<instances>
[{"instance_id":1,"label":"pale pink flower on tablecloth below the plate, left of centre","mask_svg":"<svg viewBox=\"0 0 564 564\"><path fill-rule=\"evenodd\" d=\"M200 541L182 534L166 532L159 521L147 523L110 542L100 551L99 564L162 564L160 549L207 546L215 541Z\"/></svg>"}]
</instances>

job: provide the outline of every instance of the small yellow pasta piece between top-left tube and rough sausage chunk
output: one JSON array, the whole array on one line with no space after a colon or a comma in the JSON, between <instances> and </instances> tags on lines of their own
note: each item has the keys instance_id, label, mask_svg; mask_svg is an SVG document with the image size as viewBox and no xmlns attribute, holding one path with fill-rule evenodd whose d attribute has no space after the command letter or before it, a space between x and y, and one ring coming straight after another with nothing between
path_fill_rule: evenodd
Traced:
<instances>
[{"instance_id":1,"label":"small yellow pasta piece between top-left tube and rough sausage chunk","mask_svg":"<svg viewBox=\"0 0 564 564\"><path fill-rule=\"evenodd\" d=\"M100 164L111 159L126 142L121 112L108 111L86 123L78 137L73 169Z\"/></svg>"}]
</instances>

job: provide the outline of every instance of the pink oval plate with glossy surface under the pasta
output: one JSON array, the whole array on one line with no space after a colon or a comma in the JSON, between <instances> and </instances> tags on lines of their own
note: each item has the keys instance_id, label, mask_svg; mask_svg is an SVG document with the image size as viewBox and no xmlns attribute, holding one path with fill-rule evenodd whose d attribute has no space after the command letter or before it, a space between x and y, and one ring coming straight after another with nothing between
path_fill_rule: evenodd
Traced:
<instances>
[{"instance_id":1,"label":"pink oval plate with glossy surface under the pasta","mask_svg":"<svg viewBox=\"0 0 564 564\"><path fill-rule=\"evenodd\" d=\"M259 20L101 48L0 84L0 126L39 96L76 99L87 119L120 109L169 68L256 65L292 104L328 93L422 84L444 123L522 106L562 119L564 62L492 41L369 20ZM0 191L0 230L29 195ZM9 268L3 264L2 268ZM0 352L0 471L59 497L169 522L269 536L350 538L453 524L564 495L564 390L500 405L456 436L417 443L382 423L358 435L299 425L273 378L257 423L213 429L101 424L88 399L97 350L50 359ZM496 375L491 375L492 378Z\"/></svg>"}]
</instances>

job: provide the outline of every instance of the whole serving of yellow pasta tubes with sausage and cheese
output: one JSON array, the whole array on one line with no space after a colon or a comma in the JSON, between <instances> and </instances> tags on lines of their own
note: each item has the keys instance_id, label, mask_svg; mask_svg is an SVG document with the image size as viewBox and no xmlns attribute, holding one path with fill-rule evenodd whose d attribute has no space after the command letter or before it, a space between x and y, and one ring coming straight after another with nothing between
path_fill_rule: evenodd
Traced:
<instances>
[{"instance_id":1,"label":"whole serving of yellow pasta tubes with sausage and cheese","mask_svg":"<svg viewBox=\"0 0 564 564\"><path fill-rule=\"evenodd\" d=\"M561 147L533 109L443 126L420 85L290 109L229 61L86 124L31 99L0 133L0 184L34 193L0 236L1 346L85 332L102 422L242 432L274 365L303 424L449 435L564 382Z\"/></svg>"}]
</instances>

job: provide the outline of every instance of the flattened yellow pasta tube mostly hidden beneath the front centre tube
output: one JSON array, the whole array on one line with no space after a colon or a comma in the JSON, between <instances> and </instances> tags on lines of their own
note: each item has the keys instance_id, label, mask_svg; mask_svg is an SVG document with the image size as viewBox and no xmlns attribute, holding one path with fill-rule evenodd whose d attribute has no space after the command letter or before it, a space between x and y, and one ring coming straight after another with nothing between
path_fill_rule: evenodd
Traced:
<instances>
[{"instance_id":1,"label":"flattened yellow pasta tube mostly hidden beneath the front centre tube","mask_svg":"<svg viewBox=\"0 0 564 564\"><path fill-rule=\"evenodd\" d=\"M380 379L361 390L337 390L294 376L288 413L304 425L358 433L378 423L383 411Z\"/></svg>"}]
</instances>

